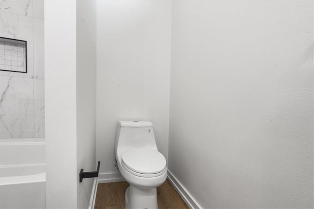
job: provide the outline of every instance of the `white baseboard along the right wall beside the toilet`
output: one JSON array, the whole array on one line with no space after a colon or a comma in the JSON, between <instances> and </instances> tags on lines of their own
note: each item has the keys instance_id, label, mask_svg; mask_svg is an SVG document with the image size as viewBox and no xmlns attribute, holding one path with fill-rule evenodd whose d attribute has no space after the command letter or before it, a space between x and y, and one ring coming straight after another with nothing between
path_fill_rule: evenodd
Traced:
<instances>
[{"instance_id":1,"label":"white baseboard along the right wall beside the toilet","mask_svg":"<svg viewBox=\"0 0 314 209\"><path fill-rule=\"evenodd\" d=\"M168 170L168 180L177 190L183 201L190 209L201 209L202 207L195 201L191 194L184 188L178 179Z\"/></svg>"}]
</instances>

